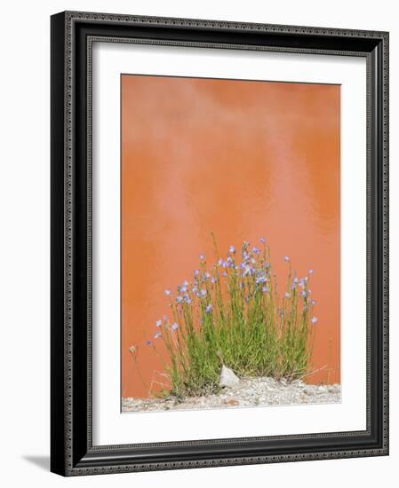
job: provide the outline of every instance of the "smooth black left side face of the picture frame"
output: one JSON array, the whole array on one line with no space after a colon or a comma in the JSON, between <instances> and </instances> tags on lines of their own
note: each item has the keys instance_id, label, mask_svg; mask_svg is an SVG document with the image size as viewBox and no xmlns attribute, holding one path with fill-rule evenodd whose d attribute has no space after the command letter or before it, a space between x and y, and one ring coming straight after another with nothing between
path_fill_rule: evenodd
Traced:
<instances>
[{"instance_id":1,"label":"smooth black left side face of the picture frame","mask_svg":"<svg viewBox=\"0 0 399 488\"><path fill-rule=\"evenodd\" d=\"M51 18L51 471L65 475L66 356L64 325L64 14Z\"/></svg>"}]
</instances>

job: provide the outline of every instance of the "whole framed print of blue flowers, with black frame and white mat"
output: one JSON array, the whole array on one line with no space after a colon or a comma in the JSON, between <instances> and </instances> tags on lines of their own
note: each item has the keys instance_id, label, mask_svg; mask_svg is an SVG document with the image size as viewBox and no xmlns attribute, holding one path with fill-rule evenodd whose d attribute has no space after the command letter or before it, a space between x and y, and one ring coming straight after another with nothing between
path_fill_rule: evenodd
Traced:
<instances>
[{"instance_id":1,"label":"whole framed print of blue flowers, with black frame and white mat","mask_svg":"<svg viewBox=\"0 0 399 488\"><path fill-rule=\"evenodd\" d=\"M388 34L52 16L52 471L388 453Z\"/></svg>"}]
</instances>

